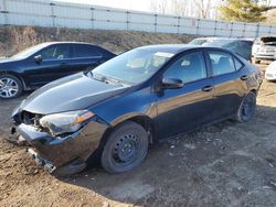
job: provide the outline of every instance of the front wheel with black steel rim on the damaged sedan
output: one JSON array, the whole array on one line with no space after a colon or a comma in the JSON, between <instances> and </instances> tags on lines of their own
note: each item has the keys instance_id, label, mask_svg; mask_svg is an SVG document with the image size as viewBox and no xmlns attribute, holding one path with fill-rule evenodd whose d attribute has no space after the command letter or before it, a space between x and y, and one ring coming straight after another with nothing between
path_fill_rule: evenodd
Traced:
<instances>
[{"instance_id":1,"label":"front wheel with black steel rim on the damaged sedan","mask_svg":"<svg viewBox=\"0 0 276 207\"><path fill-rule=\"evenodd\" d=\"M136 122L127 121L109 134L102 153L102 166L108 173L130 171L146 157L148 146L146 130Z\"/></svg>"}]
</instances>

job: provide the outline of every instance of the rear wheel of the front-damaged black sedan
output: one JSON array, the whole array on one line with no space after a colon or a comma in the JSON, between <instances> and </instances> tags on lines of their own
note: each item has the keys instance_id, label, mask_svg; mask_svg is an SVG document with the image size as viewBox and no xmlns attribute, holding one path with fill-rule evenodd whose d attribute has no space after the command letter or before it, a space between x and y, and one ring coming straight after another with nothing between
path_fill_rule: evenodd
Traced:
<instances>
[{"instance_id":1,"label":"rear wheel of the front-damaged black sedan","mask_svg":"<svg viewBox=\"0 0 276 207\"><path fill-rule=\"evenodd\" d=\"M241 102L235 116L237 122L247 122L252 119L256 109L256 95L250 91Z\"/></svg>"}]
</instances>

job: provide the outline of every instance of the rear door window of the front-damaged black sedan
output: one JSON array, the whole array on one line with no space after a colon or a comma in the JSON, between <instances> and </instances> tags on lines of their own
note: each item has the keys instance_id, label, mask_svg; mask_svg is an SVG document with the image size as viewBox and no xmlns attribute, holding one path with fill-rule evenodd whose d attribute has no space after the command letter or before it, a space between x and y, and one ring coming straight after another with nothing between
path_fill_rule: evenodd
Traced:
<instances>
[{"instance_id":1,"label":"rear door window of the front-damaged black sedan","mask_svg":"<svg viewBox=\"0 0 276 207\"><path fill-rule=\"evenodd\" d=\"M235 72L235 64L233 56L225 52L209 52L211 59L213 76L229 74Z\"/></svg>"}]
</instances>

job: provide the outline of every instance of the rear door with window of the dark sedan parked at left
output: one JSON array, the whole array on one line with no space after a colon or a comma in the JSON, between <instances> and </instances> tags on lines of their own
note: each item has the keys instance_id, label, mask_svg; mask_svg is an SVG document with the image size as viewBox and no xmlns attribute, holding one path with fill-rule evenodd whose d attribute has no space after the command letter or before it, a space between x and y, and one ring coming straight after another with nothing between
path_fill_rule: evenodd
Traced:
<instances>
[{"instance_id":1,"label":"rear door with window of the dark sedan parked at left","mask_svg":"<svg viewBox=\"0 0 276 207\"><path fill-rule=\"evenodd\" d=\"M72 67L74 73L93 69L104 62L104 55L96 46L89 44L73 45Z\"/></svg>"}]
</instances>

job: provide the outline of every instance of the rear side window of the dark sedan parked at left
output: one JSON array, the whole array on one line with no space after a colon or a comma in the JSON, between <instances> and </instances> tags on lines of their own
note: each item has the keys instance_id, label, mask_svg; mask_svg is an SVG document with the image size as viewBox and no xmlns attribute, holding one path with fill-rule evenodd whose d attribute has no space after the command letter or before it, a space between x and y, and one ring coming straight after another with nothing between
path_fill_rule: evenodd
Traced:
<instances>
[{"instance_id":1,"label":"rear side window of the dark sedan parked at left","mask_svg":"<svg viewBox=\"0 0 276 207\"><path fill-rule=\"evenodd\" d=\"M91 45L74 45L74 57L87 58L87 57L102 57L102 53Z\"/></svg>"}]
</instances>

